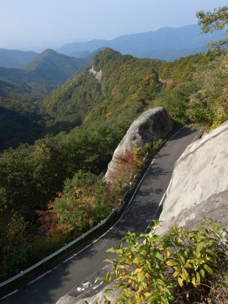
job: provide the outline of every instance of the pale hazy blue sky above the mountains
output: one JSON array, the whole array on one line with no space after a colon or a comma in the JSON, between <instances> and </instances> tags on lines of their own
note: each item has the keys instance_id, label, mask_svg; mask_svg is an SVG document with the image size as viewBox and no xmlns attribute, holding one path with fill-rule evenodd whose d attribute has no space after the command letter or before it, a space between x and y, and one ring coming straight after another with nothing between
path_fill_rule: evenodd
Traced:
<instances>
[{"instance_id":1,"label":"pale hazy blue sky above the mountains","mask_svg":"<svg viewBox=\"0 0 228 304\"><path fill-rule=\"evenodd\" d=\"M0 0L0 48L42 52L65 43L198 23L227 0Z\"/></svg>"}]
</instances>

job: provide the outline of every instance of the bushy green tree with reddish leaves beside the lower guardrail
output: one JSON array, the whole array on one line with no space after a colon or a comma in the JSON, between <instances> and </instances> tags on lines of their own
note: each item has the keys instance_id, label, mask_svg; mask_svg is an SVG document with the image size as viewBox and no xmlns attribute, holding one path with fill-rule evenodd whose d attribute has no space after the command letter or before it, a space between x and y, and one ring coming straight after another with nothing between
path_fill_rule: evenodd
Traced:
<instances>
[{"instance_id":1,"label":"bushy green tree with reddish leaves beside the lower guardrail","mask_svg":"<svg viewBox=\"0 0 228 304\"><path fill-rule=\"evenodd\" d=\"M56 238L56 232L65 236L71 231L80 235L103 220L115 205L106 183L95 174L78 171L72 179L66 179L63 193L58 194L47 211L36 211L39 221ZM55 235L54 235L55 234Z\"/></svg>"}]
</instances>

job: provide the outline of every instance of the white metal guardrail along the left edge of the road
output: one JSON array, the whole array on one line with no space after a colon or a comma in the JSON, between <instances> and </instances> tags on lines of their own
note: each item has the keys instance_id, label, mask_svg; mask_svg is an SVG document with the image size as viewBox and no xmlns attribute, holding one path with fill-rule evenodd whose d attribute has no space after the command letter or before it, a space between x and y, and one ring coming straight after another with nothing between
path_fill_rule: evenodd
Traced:
<instances>
[{"instance_id":1,"label":"white metal guardrail along the left edge of the road","mask_svg":"<svg viewBox=\"0 0 228 304\"><path fill-rule=\"evenodd\" d=\"M144 164L146 158L148 156L148 152L146 153L146 156L143 159L143 162L141 163L141 166ZM132 183L135 181L136 176L139 173L139 170L141 169L141 166L139 167L136 175L134 175L134 178L132 180L132 182L130 183L130 187L132 185ZM117 208L120 206L120 204L123 202L124 198L126 197L126 195L128 194L130 188L125 192L124 196L122 197L122 199L120 200L120 202L118 203L118 205L112 209L111 213L104 219L102 220L99 224L97 224L96 226L94 226L92 229L90 229L89 231L87 231L86 233L82 234L80 237L78 237L77 239L73 240L72 242L68 243L67 245L65 245L64 247L60 248L59 250L57 250L56 252L50 254L49 256L47 256L46 258L44 258L43 260L41 260L40 262L37 262L36 264L32 265L31 267L29 267L28 269L21 271L21 273L19 273L18 275L12 277L11 279L8 279L2 283L0 283L0 287L7 285L10 282L13 282L14 280L22 277L23 275L25 275L26 273L28 273L29 271L35 269L36 267L42 265L44 262L50 260L52 257L56 256L57 254L59 254L60 252L66 250L68 247L72 246L73 244L77 243L78 241L82 240L83 238L85 238L87 235L89 235L91 232L93 232L94 230L96 230L98 227L100 227L101 225L105 224L106 221L109 219L109 217L117 210Z\"/></svg>"}]
</instances>

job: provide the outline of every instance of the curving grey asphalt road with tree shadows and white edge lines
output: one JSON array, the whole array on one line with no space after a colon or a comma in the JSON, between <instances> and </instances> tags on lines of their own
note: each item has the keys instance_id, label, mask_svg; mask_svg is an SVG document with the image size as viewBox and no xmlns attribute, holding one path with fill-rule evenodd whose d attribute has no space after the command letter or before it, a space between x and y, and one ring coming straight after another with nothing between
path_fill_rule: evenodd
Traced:
<instances>
[{"instance_id":1,"label":"curving grey asphalt road with tree shadows and white edge lines","mask_svg":"<svg viewBox=\"0 0 228 304\"><path fill-rule=\"evenodd\" d=\"M82 252L60 264L57 268L1 300L1 304L55 304L74 286L88 276L101 270L105 258L111 253L106 250L116 247L128 231L144 233L159 209L172 176L174 163L188 144L198 138L199 130L181 129L151 162L134 199L121 220L98 241Z\"/></svg>"}]
</instances>

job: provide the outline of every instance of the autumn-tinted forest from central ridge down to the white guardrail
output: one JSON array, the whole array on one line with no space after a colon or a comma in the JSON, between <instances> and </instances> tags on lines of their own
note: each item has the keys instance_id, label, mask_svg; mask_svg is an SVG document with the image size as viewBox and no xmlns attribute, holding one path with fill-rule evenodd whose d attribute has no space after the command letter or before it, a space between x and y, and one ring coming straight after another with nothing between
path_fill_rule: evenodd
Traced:
<instances>
[{"instance_id":1,"label":"autumn-tinted forest from central ridge down to the white guardrail","mask_svg":"<svg viewBox=\"0 0 228 304\"><path fill-rule=\"evenodd\" d=\"M1 280L90 229L115 206L126 189L121 173L112 186L97 176L143 111L165 106L174 123L193 119L208 130L227 120L226 72L227 54L218 49L171 63L105 49L38 101L39 112L23 108L24 120L29 115L43 134L52 129L56 136L0 155ZM132 174L143 153L128 151ZM43 233L34 237L41 225Z\"/></svg>"}]
</instances>

